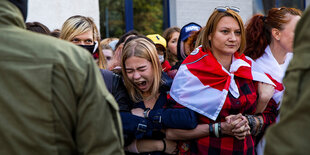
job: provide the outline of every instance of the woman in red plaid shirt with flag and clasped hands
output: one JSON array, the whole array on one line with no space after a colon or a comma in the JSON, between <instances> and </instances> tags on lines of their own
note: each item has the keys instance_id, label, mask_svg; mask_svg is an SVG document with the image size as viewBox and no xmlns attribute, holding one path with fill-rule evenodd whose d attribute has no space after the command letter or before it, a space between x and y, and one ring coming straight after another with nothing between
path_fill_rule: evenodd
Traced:
<instances>
[{"instance_id":1,"label":"woman in red plaid shirt with flag and clasped hands","mask_svg":"<svg viewBox=\"0 0 310 155\"><path fill-rule=\"evenodd\" d=\"M254 115L258 98L254 80L272 82L242 54L245 31L236 11L216 8L202 31L202 46L184 60L170 91L178 103L200 114L196 129L166 133L173 139L197 138L190 145L192 154L254 154L255 135L277 115L272 111L274 102L266 114Z\"/></svg>"}]
</instances>

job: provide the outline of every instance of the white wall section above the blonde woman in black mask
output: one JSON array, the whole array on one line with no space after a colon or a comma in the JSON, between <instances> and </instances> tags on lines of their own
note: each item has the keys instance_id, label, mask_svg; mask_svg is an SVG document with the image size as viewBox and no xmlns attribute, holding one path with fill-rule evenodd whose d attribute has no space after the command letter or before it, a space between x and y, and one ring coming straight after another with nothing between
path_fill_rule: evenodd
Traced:
<instances>
[{"instance_id":1,"label":"white wall section above the blonde woman in black mask","mask_svg":"<svg viewBox=\"0 0 310 155\"><path fill-rule=\"evenodd\" d=\"M92 17L99 28L99 0L28 0L27 22L41 22L51 31L73 15Z\"/></svg>"}]
</instances>

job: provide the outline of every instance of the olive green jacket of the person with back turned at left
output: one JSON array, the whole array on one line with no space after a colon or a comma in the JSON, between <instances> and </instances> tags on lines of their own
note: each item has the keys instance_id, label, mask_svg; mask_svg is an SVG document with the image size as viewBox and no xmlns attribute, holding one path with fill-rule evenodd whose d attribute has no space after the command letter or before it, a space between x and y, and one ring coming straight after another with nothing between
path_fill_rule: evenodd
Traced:
<instances>
[{"instance_id":1,"label":"olive green jacket of the person with back turned at left","mask_svg":"<svg viewBox=\"0 0 310 155\"><path fill-rule=\"evenodd\" d=\"M118 106L89 52L24 28L0 0L0 154L123 154Z\"/></svg>"}]
</instances>

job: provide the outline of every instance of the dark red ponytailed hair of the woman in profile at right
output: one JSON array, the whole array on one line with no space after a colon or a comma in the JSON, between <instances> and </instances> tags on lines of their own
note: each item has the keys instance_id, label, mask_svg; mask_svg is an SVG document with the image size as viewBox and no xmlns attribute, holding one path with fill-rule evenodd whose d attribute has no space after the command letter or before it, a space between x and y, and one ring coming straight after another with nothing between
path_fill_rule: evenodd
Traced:
<instances>
[{"instance_id":1,"label":"dark red ponytailed hair of the woman in profile at right","mask_svg":"<svg viewBox=\"0 0 310 155\"><path fill-rule=\"evenodd\" d=\"M244 54L257 59L265 53L265 48L271 43L271 29L276 28L283 30L285 24L290 19L287 15L301 16L301 11L295 8L272 8L268 15L262 14L254 15L246 26L246 40L247 46Z\"/></svg>"}]
</instances>

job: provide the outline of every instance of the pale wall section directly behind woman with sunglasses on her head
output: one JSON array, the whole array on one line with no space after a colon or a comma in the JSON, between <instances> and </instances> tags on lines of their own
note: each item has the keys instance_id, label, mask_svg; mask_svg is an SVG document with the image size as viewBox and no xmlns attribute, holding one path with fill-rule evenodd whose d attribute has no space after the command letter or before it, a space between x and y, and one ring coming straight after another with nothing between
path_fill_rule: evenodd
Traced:
<instances>
[{"instance_id":1,"label":"pale wall section directly behind woman with sunglasses on her head","mask_svg":"<svg viewBox=\"0 0 310 155\"><path fill-rule=\"evenodd\" d=\"M240 16L245 23L252 16L252 0L170 0L170 19L171 26L182 27L189 22L196 22L205 26L211 13L217 6L236 6L240 8Z\"/></svg>"}]
</instances>

